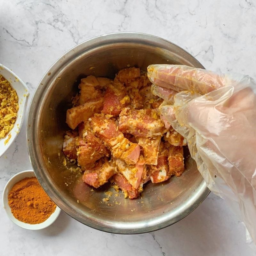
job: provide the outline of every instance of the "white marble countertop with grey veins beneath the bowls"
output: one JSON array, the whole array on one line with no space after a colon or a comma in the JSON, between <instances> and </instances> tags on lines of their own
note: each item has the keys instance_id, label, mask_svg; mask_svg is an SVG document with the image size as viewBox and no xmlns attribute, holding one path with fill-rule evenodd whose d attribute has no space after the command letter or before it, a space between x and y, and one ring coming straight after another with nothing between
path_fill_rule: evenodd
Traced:
<instances>
[{"instance_id":1,"label":"white marble countertop with grey veins beneath the bowls","mask_svg":"<svg viewBox=\"0 0 256 256\"><path fill-rule=\"evenodd\" d=\"M205 68L255 78L255 11L252 0L0 0L0 63L28 85L30 101L47 69L71 47L101 34L135 31L180 45ZM25 136L26 122L0 159L1 196L13 174L31 168ZM8 219L3 207L0 230L3 256L255 255L236 215L213 194L183 220L148 234L100 232L64 212L49 228L24 230Z\"/></svg>"}]
</instances>

